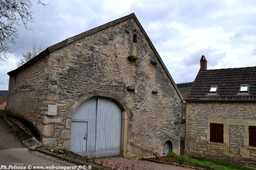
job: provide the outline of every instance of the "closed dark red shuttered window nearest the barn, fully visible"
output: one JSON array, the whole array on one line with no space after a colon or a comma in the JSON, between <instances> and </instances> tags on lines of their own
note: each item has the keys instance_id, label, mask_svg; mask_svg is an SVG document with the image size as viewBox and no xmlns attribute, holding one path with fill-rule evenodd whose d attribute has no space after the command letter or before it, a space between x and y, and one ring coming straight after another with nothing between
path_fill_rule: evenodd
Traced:
<instances>
[{"instance_id":1,"label":"closed dark red shuttered window nearest the barn, fully visible","mask_svg":"<svg viewBox=\"0 0 256 170\"><path fill-rule=\"evenodd\" d=\"M223 124L210 123L210 142L223 143Z\"/></svg>"}]
</instances>

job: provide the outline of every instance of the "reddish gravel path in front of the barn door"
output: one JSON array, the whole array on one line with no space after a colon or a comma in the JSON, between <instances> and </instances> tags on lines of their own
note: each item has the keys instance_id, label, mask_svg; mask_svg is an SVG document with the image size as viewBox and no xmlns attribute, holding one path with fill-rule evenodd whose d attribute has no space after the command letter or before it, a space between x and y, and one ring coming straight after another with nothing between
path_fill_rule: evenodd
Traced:
<instances>
[{"instance_id":1,"label":"reddish gravel path in front of the barn door","mask_svg":"<svg viewBox=\"0 0 256 170\"><path fill-rule=\"evenodd\" d=\"M155 162L149 162L149 161L134 161L131 159L126 158L106 158L106 159L97 159L95 160L97 163L103 163L103 166L108 166L115 168L115 165L119 163L118 170L193 170L191 168L181 167L181 166L174 166L174 165L167 165L167 164L161 164L161 163L155 163ZM103 161L103 162L101 162ZM127 169L127 167L129 169Z\"/></svg>"}]
</instances>

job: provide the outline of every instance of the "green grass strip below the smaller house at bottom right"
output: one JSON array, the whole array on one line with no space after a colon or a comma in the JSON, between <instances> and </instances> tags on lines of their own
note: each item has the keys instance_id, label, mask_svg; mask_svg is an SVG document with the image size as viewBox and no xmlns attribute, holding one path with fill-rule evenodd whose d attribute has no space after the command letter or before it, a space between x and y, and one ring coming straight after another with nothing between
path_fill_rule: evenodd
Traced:
<instances>
[{"instance_id":1,"label":"green grass strip below the smaller house at bottom right","mask_svg":"<svg viewBox=\"0 0 256 170\"><path fill-rule=\"evenodd\" d=\"M241 165L236 165L226 162L215 162L215 161L206 161L203 159L193 159L183 155L177 155L175 153L169 153L166 157L163 157L165 162L178 163L180 165L188 165L195 167L202 167L204 169L213 169L213 170L255 170L253 168L244 167Z\"/></svg>"}]
</instances>

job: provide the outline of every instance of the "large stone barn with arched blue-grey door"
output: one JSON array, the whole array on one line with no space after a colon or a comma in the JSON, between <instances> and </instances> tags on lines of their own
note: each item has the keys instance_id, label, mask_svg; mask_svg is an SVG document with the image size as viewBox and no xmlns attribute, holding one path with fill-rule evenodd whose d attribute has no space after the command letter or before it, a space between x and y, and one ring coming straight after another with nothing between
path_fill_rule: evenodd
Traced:
<instances>
[{"instance_id":1,"label":"large stone barn with arched blue-grey door","mask_svg":"<svg viewBox=\"0 0 256 170\"><path fill-rule=\"evenodd\" d=\"M182 96L132 13L8 72L7 110L45 146L127 158L180 153Z\"/></svg>"}]
</instances>

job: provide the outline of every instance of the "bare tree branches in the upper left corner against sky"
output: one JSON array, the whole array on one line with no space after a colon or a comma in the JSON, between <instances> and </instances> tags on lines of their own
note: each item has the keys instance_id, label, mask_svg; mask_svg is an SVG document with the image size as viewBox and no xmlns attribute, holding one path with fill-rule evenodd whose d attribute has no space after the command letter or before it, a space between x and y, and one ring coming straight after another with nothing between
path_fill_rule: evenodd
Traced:
<instances>
[{"instance_id":1,"label":"bare tree branches in the upper left corner against sky","mask_svg":"<svg viewBox=\"0 0 256 170\"><path fill-rule=\"evenodd\" d=\"M38 4L47 5L38 0ZM19 32L17 25L24 25L27 30L27 23L33 22L32 12L29 10L33 4L31 0L0 0L0 60L7 60L7 52L10 51L10 44L15 44Z\"/></svg>"}]
</instances>

